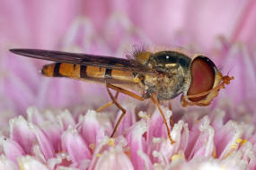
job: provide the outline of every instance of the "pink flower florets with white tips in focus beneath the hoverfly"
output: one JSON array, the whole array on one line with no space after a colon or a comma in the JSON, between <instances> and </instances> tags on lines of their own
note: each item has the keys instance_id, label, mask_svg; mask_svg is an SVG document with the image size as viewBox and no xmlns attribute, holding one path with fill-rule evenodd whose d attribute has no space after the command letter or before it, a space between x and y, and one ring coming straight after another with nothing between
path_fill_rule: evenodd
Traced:
<instances>
[{"instance_id":1,"label":"pink flower florets with white tips in focus beneath the hoverfly","mask_svg":"<svg viewBox=\"0 0 256 170\"><path fill-rule=\"evenodd\" d=\"M166 116L172 112L163 107ZM228 121L216 109L186 113L172 128L171 144L158 110L140 112L141 120L123 124L114 139L112 113L88 110L77 121L67 110L44 112L35 107L10 121L0 139L3 169L226 169L256 167L256 133L250 123ZM56 117L52 119L52 117ZM129 122L129 121L128 121Z\"/></svg>"}]
</instances>

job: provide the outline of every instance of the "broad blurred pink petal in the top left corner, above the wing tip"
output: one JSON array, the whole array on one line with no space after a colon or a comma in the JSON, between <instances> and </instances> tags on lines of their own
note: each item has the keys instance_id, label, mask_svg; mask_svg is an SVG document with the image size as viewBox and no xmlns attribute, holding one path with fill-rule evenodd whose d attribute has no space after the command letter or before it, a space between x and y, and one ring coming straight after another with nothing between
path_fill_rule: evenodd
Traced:
<instances>
[{"instance_id":1,"label":"broad blurred pink petal in the top left corner, above the wing tip","mask_svg":"<svg viewBox=\"0 0 256 170\"><path fill-rule=\"evenodd\" d=\"M36 4L15 4L4 1L1 6L2 13L0 16L3 16L1 20L8 21L10 24L9 27L4 24L4 34L9 37L9 41L20 44L32 44L34 47L53 47L65 33L66 28L75 17L74 15L77 14L77 6L75 5L66 0L61 1L61 3L57 0L55 3L44 1ZM48 10L43 10L43 6L47 6ZM56 7L59 7L58 13L56 13ZM5 9L9 10L6 11ZM9 20L4 16L9 16ZM49 17L52 20L49 20ZM48 36L45 36L46 34Z\"/></svg>"}]
</instances>

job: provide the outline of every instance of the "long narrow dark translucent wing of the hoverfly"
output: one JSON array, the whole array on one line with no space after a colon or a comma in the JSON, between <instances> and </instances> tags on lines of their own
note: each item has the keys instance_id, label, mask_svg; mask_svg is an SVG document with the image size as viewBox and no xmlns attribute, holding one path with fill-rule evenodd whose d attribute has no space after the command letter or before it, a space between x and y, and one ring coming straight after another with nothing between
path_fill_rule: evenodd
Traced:
<instances>
[{"instance_id":1,"label":"long narrow dark translucent wing of the hoverfly","mask_svg":"<svg viewBox=\"0 0 256 170\"><path fill-rule=\"evenodd\" d=\"M116 58L112 56L87 55L40 49L10 49L10 51L16 55L24 55L31 58L38 58L59 63L92 65L130 72L154 73L145 65L138 64L134 60Z\"/></svg>"}]
</instances>

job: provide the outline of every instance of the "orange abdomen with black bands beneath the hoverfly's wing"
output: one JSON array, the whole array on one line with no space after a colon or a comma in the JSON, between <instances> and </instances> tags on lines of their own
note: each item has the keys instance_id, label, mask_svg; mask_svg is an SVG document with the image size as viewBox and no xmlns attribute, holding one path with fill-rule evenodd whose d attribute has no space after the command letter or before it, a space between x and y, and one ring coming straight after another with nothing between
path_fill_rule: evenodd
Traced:
<instances>
[{"instance_id":1,"label":"orange abdomen with black bands beneath the hoverfly's wing","mask_svg":"<svg viewBox=\"0 0 256 170\"><path fill-rule=\"evenodd\" d=\"M134 81L133 72L80 64L47 64L43 66L42 74L49 77L68 77L85 80Z\"/></svg>"}]
</instances>

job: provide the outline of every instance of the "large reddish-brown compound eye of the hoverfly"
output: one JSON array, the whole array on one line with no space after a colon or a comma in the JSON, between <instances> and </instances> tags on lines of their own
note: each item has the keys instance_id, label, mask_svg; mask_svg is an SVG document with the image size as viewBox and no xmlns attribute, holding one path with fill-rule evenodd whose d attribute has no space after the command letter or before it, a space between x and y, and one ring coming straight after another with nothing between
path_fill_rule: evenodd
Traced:
<instances>
[{"instance_id":1,"label":"large reddish-brown compound eye of the hoverfly","mask_svg":"<svg viewBox=\"0 0 256 170\"><path fill-rule=\"evenodd\" d=\"M191 64L191 82L187 95L196 95L213 88L215 82L215 64L205 56L197 56ZM189 98L190 101L198 102L207 95L198 98Z\"/></svg>"}]
</instances>

